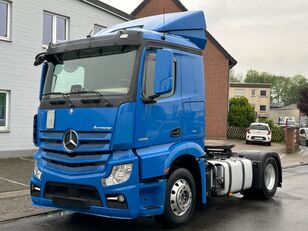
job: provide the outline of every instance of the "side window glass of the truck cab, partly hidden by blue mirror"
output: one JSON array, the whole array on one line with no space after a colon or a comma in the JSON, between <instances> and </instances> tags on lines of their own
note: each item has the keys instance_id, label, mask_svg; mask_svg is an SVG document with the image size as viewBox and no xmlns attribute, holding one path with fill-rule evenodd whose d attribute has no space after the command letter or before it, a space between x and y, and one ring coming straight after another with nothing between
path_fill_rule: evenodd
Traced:
<instances>
[{"instance_id":1,"label":"side window glass of the truck cab, partly hidden by blue mirror","mask_svg":"<svg viewBox=\"0 0 308 231\"><path fill-rule=\"evenodd\" d=\"M154 95L154 78L155 78L155 64L156 64L156 54L148 53L145 60L143 81L142 81L142 93L143 96L148 98ZM157 99L167 98L173 95L175 91L175 79L176 79L176 61L173 62L173 91L167 94L163 94Z\"/></svg>"}]
</instances>

